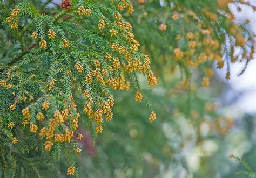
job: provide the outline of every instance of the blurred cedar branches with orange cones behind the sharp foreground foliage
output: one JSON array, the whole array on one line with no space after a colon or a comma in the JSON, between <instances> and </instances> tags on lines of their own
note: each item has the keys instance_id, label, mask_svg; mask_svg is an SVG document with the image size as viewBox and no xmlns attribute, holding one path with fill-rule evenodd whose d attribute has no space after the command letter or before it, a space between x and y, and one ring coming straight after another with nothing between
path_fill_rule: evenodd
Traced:
<instances>
[{"instance_id":1,"label":"blurred cedar branches with orange cones behind the sharp foreground foliage","mask_svg":"<svg viewBox=\"0 0 256 178\"><path fill-rule=\"evenodd\" d=\"M238 75L244 73L253 58L254 35L246 28L246 21L235 24L230 6L246 5L245 1L134 1L134 11L129 21L142 51L152 59L159 79L163 73L178 71L188 85L193 69L203 75L201 84L210 85L212 61L217 68L226 68L226 79L231 76L230 64L244 62ZM237 49L238 53L234 53Z\"/></svg>"}]
</instances>

